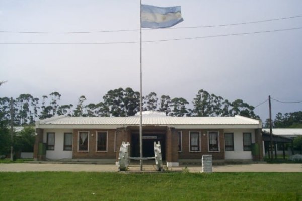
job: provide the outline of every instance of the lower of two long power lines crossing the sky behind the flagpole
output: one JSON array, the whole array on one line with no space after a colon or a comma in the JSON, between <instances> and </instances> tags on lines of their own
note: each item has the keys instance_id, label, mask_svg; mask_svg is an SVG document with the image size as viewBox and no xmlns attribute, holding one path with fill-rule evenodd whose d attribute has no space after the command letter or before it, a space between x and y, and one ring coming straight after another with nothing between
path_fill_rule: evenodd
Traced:
<instances>
[{"instance_id":1,"label":"lower of two long power lines crossing the sky behind the flagpole","mask_svg":"<svg viewBox=\"0 0 302 201\"><path fill-rule=\"evenodd\" d=\"M191 39L214 38L214 37L222 37L222 36L237 36L237 35L268 33L268 32L289 31L289 30L298 30L298 29L302 29L302 27L295 27L295 28L288 28L288 29L277 29L277 30L268 30L268 31L258 31L258 32L246 32L246 33L235 33L235 34L222 34L222 35L200 36L200 37L190 37L190 38L150 40L150 41L142 41L142 42L143 43L150 43L150 42L163 42L163 41L191 40ZM82 42L79 42L79 43L0 43L0 45L91 45L91 44L127 44L127 43L139 43L139 41L83 42L83 43Z\"/></svg>"}]
</instances>

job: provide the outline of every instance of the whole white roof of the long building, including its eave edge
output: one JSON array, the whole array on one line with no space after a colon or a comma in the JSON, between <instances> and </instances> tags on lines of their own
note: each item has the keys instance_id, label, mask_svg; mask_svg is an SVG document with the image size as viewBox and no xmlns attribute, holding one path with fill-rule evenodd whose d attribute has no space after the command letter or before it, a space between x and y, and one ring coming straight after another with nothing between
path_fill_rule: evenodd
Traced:
<instances>
[{"instance_id":1,"label":"whole white roof of the long building, including its eave edge","mask_svg":"<svg viewBox=\"0 0 302 201\"><path fill-rule=\"evenodd\" d=\"M36 122L36 128L119 128L139 126L139 115L130 117L69 117L58 116ZM143 126L175 128L262 128L261 121L247 117L171 117L165 113L146 111Z\"/></svg>"}]
</instances>

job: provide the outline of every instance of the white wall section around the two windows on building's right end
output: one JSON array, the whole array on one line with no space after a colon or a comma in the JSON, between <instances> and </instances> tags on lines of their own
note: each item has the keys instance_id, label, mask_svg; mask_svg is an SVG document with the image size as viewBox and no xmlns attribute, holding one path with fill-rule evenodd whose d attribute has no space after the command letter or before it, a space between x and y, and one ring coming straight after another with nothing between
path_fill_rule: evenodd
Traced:
<instances>
[{"instance_id":1,"label":"white wall section around the two windows on building's right end","mask_svg":"<svg viewBox=\"0 0 302 201\"><path fill-rule=\"evenodd\" d=\"M254 129L224 129L225 133L234 133L234 151L225 151L226 160L252 159L252 151L243 151L243 133L252 134L252 143L255 143ZM224 135L224 134L223 134Z\"/></svg>"}]
</instances>

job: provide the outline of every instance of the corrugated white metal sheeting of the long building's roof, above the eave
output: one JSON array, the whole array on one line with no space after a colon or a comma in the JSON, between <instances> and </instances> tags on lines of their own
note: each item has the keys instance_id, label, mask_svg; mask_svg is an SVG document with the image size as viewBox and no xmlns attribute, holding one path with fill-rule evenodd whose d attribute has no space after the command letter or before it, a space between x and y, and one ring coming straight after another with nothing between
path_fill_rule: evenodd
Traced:
<instances>
[{"instance_id":1,"label":"corrugated white metal sheeting of the long building's roof, above the eave","mask_svg":"<svg viewBox=\"0 0 302 201\"><path fill-rule=\"evenodd\" d=\"M139 125L139 116L131 117L68 117L58 116L40 120L37 125ZM235 117L171 117L147 114L143 125L259 125L258 120Z\"/></svg>"}]
</instances>

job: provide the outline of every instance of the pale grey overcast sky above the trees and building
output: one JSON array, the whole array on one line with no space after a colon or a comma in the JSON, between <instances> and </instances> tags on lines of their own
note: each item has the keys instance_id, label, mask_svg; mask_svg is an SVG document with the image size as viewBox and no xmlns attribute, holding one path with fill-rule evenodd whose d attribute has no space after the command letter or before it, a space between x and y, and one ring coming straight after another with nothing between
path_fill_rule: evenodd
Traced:
<instances>
[{"instance_id":1,"label":"pale grey overcast sky above the trees and building","mask_svg":"<svg viewBox=\"0 0 302 201\"><path fill-rule=\"evenodd\" d=\"M147 1L181 6L177 27L212 26L302 15L302 1ZM139 1L0 0L0 31L87 32L0 33L0 43L87 43L139 41ZM142 40L164 40L302 27L302 17L262 23L188 29L144 29ZM302 100L302 29L142 44L143 95L156 92L193 100L199 89L257 106L271 95ZM98 103L110 89L139 91L139 43L90 45L0 45L0 97L59 92L60 104ZM302 103L272 102L277 112L302 110ZM255 109L264 121L268 103Z\"/></svg>"}]
</instances>

